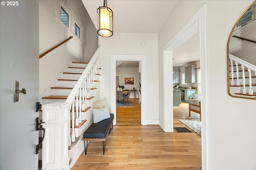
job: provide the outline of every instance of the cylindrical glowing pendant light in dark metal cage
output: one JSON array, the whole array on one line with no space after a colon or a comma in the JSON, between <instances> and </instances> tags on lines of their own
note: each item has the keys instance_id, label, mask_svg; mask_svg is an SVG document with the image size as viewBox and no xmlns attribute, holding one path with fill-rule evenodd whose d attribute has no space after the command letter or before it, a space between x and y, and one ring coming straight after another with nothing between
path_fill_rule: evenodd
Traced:
<instances>
[{"instance_id":1,"label":"cylindrical glowing pendant light in dark metal cage","mask_svg":"<svg viewBox=\"0 0 256 170\"><path fill-rule=\"evenodd\" d=\"M107 0L103 0L103 6L97 9L98 35L111 37L113 35L113 11L107 7Z\"/></svg>"}]
</instances>

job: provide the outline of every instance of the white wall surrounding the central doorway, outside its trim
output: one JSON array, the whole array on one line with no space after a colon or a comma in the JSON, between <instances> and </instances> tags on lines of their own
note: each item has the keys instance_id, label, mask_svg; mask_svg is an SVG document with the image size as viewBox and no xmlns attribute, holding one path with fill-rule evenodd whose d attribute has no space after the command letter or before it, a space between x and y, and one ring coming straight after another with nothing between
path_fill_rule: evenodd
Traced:
<instances>
[{"instance_id":1,"label":"white wall surrounding the central doorway, outside its trim","mask_svg":"<svg viewBox=\"0 0 256 170\"><path fill-rule=\"evenodd\" d=\"M158 119L157 39L157 34L114 33L110 38L99 40L100 45L102 45L101 98L106 98L110 102L110 55L146 55L147 119ZM142 41L146 41L145 46L141 45ZM152 96L154 96L154 100L152 100Z\"/></svg>"}]
</instances>

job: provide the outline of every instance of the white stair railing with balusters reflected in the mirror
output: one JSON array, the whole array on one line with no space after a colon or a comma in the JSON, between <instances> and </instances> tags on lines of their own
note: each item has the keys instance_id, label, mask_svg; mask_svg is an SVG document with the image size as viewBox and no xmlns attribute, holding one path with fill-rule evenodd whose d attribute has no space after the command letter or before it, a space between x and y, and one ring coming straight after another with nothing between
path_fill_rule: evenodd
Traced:
<instances>
[{"instance_id":1,"label":"white stair railing with balusters reflected in the mirror","mask_svg":"<svg viewBox=\"0 0 256 170\"><path fill-rule=\"evenodd\" d=\"M249 73L249 94L252 95L253 94L253 90L252 90L252 71L254 71L254 74L256 75L256 66L254 64L248 63L247 61L244 61L232 54L229 54L229 60L231 63L231 85L234 85L234 68L233 68L233 62L235 62L236 64L236 86L240 85L239 82L239 70L238 70L238 66L239 64L241 64L241 68L242 68L242 82L243 82L243 94L247 94L246 88L245 88L245 70L244 68L248 68L248 73Z\"/></svg>"}]
</instances>

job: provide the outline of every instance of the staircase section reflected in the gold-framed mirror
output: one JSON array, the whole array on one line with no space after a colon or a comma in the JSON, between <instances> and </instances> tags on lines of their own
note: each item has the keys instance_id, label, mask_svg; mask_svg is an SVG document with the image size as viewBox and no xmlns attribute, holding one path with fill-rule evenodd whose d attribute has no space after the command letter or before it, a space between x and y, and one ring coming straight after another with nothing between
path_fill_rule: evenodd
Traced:
<instances>
[{"instance_id":1,"label":"staircase section reflected in the gold-framed mirror","mask_svg":"<svg viewBox=\"0 0 256 170\"><path fill-rule=\"evenodd\" d=\"M256 66L229 54L230 94L256 98Z\"/></svg>"}]
</instances>

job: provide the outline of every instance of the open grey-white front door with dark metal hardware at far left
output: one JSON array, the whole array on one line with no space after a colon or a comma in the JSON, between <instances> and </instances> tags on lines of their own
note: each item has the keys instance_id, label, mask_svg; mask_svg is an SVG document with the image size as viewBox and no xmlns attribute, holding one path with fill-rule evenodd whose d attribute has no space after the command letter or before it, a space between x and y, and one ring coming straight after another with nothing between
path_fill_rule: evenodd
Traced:
<instances>
[{"instance_id":1,"label":"open grey-white front door with dark metal hardware at far left","mask_svg":"<svg viewBox=\"0 0 256 170\"><path fill-rule=\"evenodd\" d=\"M9 6L8 6L8 4ZM15 6L13 6L15 4ZM38 1L2 1L0 6L0 169L37 170L39 99ZM14 102L14 81L19 93Z\"/></svg>"}]
</instances>

